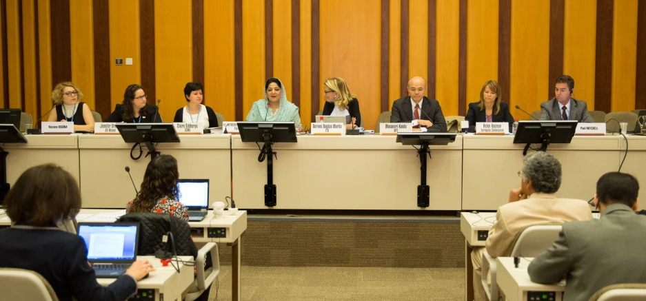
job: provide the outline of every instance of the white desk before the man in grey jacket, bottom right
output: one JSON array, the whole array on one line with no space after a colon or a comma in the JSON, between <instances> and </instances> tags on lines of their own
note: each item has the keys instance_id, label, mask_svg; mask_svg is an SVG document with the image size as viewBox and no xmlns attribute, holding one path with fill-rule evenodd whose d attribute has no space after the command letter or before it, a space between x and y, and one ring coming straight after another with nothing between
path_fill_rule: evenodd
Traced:
<instances>
[{"instance_id":1,"label":"white desk before the man in grey jacket, bottom right","mask_svg":"<svg viewBox=\"0 0 646 301\"><path fill-rule=\"evenodd\" d=\"M529 280L527 266L534 258L521 258L518 268L513 257L498 257L498 287L509 301L561 301L565 291L565 280L558 284L538 284ZM543 298L546 296L547 298Z\"/></svg>"}]
</instances>

